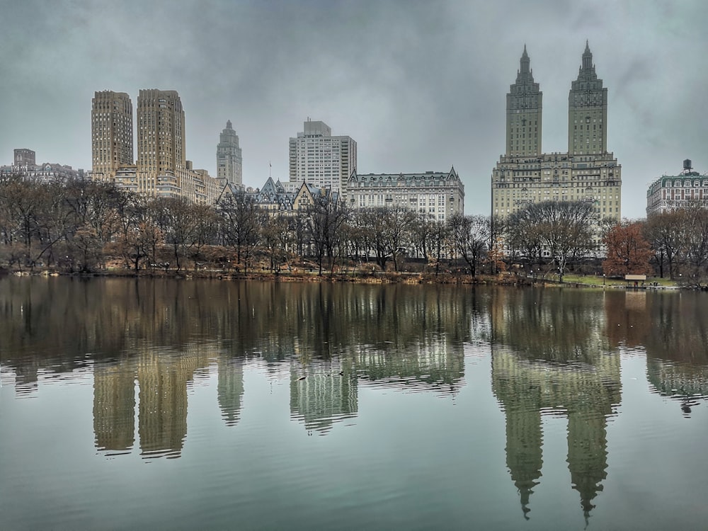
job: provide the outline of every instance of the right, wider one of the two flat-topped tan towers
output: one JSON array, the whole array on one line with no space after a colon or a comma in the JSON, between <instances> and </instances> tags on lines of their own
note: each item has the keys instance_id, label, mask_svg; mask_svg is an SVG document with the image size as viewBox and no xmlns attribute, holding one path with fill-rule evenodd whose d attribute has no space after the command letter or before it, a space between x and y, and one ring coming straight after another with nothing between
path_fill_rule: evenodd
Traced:
<instances>
[{"instance_id":1,"label":"right, wider one of the two flat-topped tan towers","mask_svg":"<svg viewBox=\"0 0 708 531\"><path fill-rule=\"evenodd\" d=\"M142 89L137 97L138 191L155 195L174 188L179 193L186 166L184 109L177 91Z\"/></svg>"}]
</instances>

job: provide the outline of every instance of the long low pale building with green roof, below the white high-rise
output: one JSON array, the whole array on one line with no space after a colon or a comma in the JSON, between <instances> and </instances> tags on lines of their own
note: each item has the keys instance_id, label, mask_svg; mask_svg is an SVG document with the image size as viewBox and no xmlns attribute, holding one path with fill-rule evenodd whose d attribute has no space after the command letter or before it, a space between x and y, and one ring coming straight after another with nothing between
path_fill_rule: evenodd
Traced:
<instances>
[{"instance_id":1,"label":"long low pale building with green roof, below the white high-rise","mask_svg":"<svg viewBox=\"0 0 708 531\"><path fill-rule=\"evenodd\" d=\"M450 171L421 173L365 173L350 176L346 186L350 208L395 207L445 222L464 215L464 184Z\"/></svg>"}]
</instances>

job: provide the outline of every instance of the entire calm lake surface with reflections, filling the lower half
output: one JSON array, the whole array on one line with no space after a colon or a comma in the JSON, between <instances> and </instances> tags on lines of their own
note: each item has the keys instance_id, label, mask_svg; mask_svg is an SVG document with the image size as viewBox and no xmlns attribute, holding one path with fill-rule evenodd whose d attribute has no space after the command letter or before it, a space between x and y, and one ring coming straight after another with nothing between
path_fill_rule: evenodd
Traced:
<instances>
[{"instance_id":1,"label":"entire calm lake surface with reflections, filling the lower half","mask_svg":"<svg viewBox=\"0 0 708 531\"><path fill-rule=\"evenodd\" d=\"M1 278L0 527L705 530L707 309Z\"/></svg>"}]
</instances>

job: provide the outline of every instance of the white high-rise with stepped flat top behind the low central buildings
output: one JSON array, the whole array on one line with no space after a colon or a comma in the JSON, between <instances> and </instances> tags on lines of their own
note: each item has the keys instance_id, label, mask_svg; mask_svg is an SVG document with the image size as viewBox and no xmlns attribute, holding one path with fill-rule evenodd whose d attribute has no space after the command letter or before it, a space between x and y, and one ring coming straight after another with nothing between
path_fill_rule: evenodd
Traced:
<instances>
[{"instance_id":1,"label":"white high-rise with stepped flat top behind the low central buildings","mask_svg":"<svg viewBox=\"0 0 708 531\"><path fill-rule=\"evenodd\" d=\"M329 125L307 120L297 137L290 137L290 184L302 182L346 194L346 183L356 170L356 142L333 137Z\"/></svg>"}]
</instances>

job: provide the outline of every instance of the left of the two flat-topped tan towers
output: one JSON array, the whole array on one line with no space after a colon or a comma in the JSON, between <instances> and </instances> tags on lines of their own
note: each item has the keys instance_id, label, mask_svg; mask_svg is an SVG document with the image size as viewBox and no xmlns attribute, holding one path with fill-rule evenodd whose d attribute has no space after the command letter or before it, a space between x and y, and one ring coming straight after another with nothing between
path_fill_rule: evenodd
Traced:
<instances>
[{"instance_id":1,"label":"left of the two flat-topped tan towers","mask_svg":"<svg viewBox=\"0 0 708 531\"><path fill-rule=\"evenodd\" d=\"M91 100L93 178L110 181L133 164L132 102L125 92L96 92Z\"/></svg>"}]
</instances>

